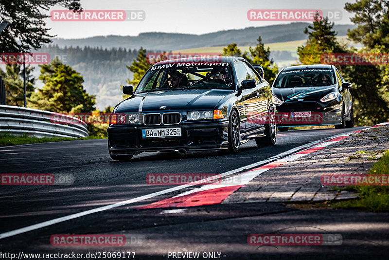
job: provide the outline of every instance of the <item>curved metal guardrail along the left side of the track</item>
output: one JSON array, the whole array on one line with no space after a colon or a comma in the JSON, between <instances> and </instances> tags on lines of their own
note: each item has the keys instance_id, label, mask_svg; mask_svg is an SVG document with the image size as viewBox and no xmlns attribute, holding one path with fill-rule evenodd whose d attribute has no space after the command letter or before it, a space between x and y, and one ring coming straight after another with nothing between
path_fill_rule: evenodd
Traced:
<instances>
[{"instance_id":1,"label":"curved metal guardrail along the left side of the track","mask_svg":"<svg viewBox=\"0 0 389 260\"><path fill-rule=\"evenodd\" d=\"M53 116L61 115L50 111L17 106L0 105L0 132L12 135L32 135L35 137L87 137L87 124L69 115L75 124L54 124Z\"/></svg>"}]
</instances>

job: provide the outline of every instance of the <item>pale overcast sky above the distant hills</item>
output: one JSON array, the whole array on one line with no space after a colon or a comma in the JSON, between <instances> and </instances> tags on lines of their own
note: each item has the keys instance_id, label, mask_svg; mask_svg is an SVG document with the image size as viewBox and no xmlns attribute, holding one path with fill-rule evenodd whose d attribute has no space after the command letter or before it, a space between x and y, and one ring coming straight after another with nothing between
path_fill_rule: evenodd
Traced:
<instances>
[{"instance_id":1,"label":"pale overcast sky above the distant hills","mask_svg":"<svg viewBox=\"0 0 389 260\"><path fill-rule=\"evenodd\" d=\"M121 35L142 32L205 34L250 26L289 23L250 21L250 9L338 10L336 24L351 24L345 2L354 0L81 0L85 10L143 10L144 21L52 21L46 19L50 33L61 38ZM65 10L54 6L51 10Z\"/></svg>"}]
</instances>

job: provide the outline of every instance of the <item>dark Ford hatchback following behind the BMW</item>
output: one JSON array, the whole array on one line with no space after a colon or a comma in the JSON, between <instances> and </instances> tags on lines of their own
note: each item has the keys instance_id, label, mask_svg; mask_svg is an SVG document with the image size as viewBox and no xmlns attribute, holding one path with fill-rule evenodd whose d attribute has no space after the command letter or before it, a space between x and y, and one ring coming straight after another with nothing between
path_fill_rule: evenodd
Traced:
<instances>
[{"instance_id":1,"label":"dark Ford hatchback following behind the BMW","mask_svg":"<svg viewBox=\"0 0 389 260\"><path fill-rule=\"evenodd\" d=\"M314 125L353 127L351 87L352 84L345 82L333 65L301 65L283 69L272 86L279 130Z\"/></svg>"}]
</instances>

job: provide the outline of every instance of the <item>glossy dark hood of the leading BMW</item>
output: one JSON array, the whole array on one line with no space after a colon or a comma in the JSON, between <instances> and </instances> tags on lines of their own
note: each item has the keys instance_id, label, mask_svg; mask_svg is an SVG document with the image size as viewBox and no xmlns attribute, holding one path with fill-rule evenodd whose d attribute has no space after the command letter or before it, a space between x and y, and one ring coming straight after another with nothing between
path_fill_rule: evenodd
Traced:
<instances>
[{"instance_id":1,"label":"glossy dark hood of the leading BMW","mask_svg":"<svg viewBox=\"0 0 389 260\"><path fill-rule=\"evenodd\" d=\"M213 110L232 90L174 90L132 95L120 103L116 113L148 111ZM160 107L166 107L160 109Z\"/></svg>"}]
</instances>

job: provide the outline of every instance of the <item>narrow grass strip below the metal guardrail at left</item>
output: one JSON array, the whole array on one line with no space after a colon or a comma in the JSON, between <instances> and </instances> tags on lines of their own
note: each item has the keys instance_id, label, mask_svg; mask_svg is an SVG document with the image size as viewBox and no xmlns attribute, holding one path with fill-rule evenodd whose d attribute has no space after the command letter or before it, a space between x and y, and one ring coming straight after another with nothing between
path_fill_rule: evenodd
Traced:
<instances>
[{"instance_id":1,"label":"narrow grass strip below the metal guardrail at left","mask_svg":"<svg viewBox=\"0 0 389 260\"><path fill-rule=\"evenodd\" d=\"M100 136L88 136L80 138L69 138L69 137L29 137L26 135L15 136L10 134L0 134L0 147L1 146L14 146L14 145L25 145L25 144L36 144L36 143L48 143L48 142L61 142L61 141L74 141L74 140L90 140L90 139L104 139Z\"/></svg>"}]
</instances>

